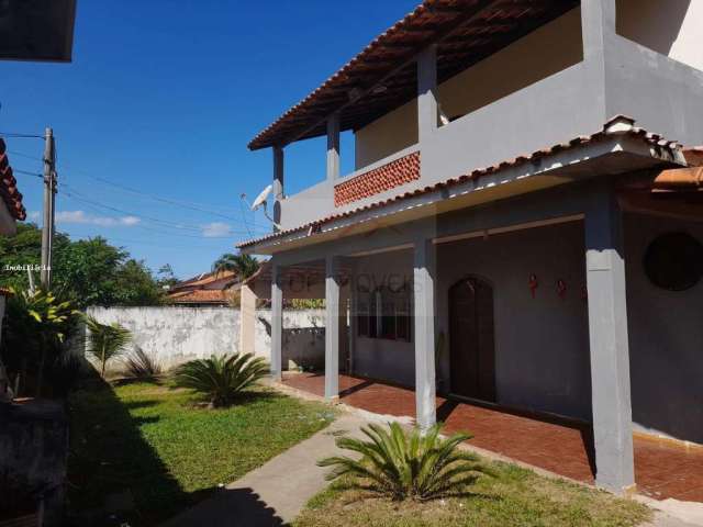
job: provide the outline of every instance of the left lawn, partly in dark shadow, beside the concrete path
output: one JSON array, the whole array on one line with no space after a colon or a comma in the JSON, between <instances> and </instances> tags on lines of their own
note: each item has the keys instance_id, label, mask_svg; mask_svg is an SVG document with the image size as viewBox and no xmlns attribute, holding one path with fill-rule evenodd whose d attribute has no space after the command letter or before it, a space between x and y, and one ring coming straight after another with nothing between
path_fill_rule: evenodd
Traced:
<instances>
[{"instance_id":1,"label":"left lawn, partly in dark shadow, beside the concrete path","mask_svg":"<svg viewBox=\"0 0 703 527\"><path fill-rule=\"evenodd\" d=\"M208 410L157 383L101 384L69 399L69 507L85 518L110 495L130 525L154 525L324 428L327 406L256 388ZM94 524L94 520L92 522ZM98 524L96 524L98 525Z\"/></svg>"}]
</instances>

